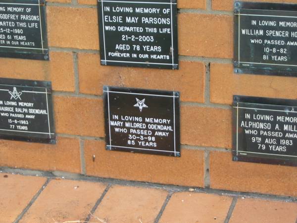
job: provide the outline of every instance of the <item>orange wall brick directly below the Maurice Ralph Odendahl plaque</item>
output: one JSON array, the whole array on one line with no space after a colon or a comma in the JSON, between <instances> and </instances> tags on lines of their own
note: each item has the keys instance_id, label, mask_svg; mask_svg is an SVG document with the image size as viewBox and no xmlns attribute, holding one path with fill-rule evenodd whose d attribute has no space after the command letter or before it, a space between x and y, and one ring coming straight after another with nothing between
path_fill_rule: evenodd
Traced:
<instances>
[{"instance_id":1,"label":"orange wall brick directly below the Maurice Ralph Odendahl plaque","mask_svg":"<svg viewBox=\"0 0 297 223\"><path fill-rule=\"evenodd\" d=\"M55 145L0 140L0 166L79 173L79 140L57 137Z\"/></svg>"}]
</instances>

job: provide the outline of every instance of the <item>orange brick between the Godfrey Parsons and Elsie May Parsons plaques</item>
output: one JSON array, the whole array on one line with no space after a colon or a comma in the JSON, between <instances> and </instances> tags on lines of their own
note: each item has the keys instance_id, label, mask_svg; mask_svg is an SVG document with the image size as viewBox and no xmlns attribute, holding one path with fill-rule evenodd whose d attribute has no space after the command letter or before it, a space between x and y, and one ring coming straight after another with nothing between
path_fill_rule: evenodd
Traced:
<instances>
[{"instance_id":1,"label":"orange brick between the Godfrey Parsons and Elsie May Parsons plaques","mask_svg":"<svg viewBox=\"0 0 297 223\"><path fill-rule=\"evenodd\" d=\"M99 49L96 8L47 7L51 47Z\"/></svg>"}]
</instances>

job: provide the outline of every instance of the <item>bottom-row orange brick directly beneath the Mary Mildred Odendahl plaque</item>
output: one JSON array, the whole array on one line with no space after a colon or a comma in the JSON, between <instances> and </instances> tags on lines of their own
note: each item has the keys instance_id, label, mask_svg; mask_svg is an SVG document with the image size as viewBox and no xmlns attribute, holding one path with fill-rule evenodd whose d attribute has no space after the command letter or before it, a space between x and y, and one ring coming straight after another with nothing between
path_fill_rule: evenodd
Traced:
<instances>
[{"instance_id":1,"label":"bottom-row orange brick directly beneath the Mary Mildred Odendahl plaque","mask_svg":"<svg viewBox=\"0 0 297 223\"><path fill-rule=\"evenodd\" d=\"M199 150L182 149L174 158L106 151L103 141L85 141L87 174L101 177L203 187L203 159Z\"/></svg>"}]
</instances>

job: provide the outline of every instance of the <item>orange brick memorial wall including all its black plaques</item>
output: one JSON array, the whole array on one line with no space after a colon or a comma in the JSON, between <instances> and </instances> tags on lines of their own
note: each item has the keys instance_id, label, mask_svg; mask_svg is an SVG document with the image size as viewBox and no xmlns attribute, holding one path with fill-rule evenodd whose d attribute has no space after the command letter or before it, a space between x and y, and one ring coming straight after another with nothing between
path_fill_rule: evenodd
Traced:
<instances>
[{"instance_id":1,"label":"orange brick memorial wall including all its black plaques","mask_svg":"<svg viewBox=\"0 0 297 223\"><path fill-rule=\"evenodd\" d=\"M0 0L0 167L296 197L296 67L297 0Z\"/></svg>"}]
</instances>

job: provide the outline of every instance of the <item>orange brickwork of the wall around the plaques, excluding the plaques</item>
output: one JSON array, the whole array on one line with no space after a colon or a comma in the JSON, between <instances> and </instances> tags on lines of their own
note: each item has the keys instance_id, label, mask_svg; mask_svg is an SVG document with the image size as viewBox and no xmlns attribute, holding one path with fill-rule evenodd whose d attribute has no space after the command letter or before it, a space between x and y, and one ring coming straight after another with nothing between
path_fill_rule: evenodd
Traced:
<instances>
[{"instance_id":1,"label":"orange brickwork of the wall around the plaques, excluding the plaques","mask_svg":"<svg viewBox=\"0 0 297 223\"><path fill-rule=\"evenodd\" d=\"M96 2L48 0L50 61L0 58L0 77L52 81L57 132L0 140L0 166L297 196L297 167L231 159L234 94L297 98L297 78L233 73L233 0L178 0L179 70L100 66ZM182 157L105 151L103 85L180 91Z\"/></svg>"}]
</instances>

